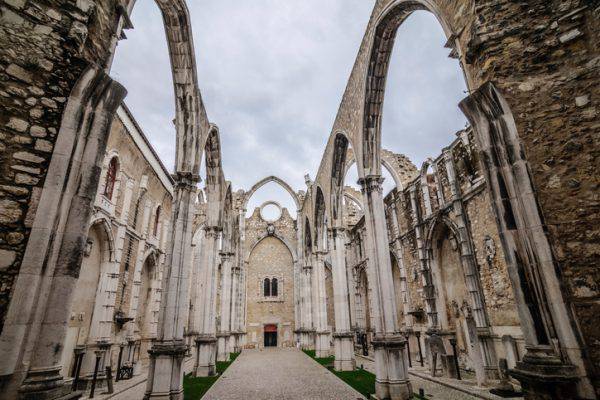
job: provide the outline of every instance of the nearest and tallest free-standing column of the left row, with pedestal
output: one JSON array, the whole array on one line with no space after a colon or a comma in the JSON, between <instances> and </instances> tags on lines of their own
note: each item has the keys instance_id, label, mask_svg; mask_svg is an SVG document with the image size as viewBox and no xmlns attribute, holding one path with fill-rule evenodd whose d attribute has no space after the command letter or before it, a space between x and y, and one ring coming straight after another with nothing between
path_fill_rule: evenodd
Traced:
<instances>
[{"instance_id":1,"label":"nearest and tallest free-standing column of the left row, with pedestal","mask_svg":"<svg viewBox=\"0 0 600 400\"><path fill-rule=\"evenodd\" d=\"M183 399L183 360L187 345L183 337L189 304L189 275L196 185L200 177L177 173L173 194L173 218L165 273L157 339L150 354L145 399Z\"/></svg>"}]
</instances>

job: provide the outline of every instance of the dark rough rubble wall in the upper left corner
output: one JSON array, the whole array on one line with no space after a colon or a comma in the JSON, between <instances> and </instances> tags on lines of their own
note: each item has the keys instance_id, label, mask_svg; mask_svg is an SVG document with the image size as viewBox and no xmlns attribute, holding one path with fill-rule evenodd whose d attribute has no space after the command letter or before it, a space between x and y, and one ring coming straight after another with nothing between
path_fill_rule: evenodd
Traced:
<instances>
[{"instance_id":1,"label":"dark rough rubble wall in the upper left corner","mask_svg":"<svg viewBox=\"0 0 600 400\"><path fill-rule=\"evenodd\" d=\"M0 1L0 331L65 103L110 47L109 0Z\"/></svg>"}]
</instances>

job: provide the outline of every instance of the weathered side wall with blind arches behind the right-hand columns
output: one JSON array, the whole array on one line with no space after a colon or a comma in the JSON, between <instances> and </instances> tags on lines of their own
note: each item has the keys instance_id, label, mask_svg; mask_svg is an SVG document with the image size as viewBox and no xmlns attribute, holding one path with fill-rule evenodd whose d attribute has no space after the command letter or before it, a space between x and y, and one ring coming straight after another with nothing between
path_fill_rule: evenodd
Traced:
<instances>
[{"instance_id":1,"label":"weathered side wall with blind arches behind the right-hand columns","mask_svg":"<svg viewBox=\"0 0 600 400\"><path fill-rule=\"evenodd\" d=\"M509 359L509 366L515 367L525 352L524 341L488 189L474 162L472 130L458 132L457 136L442 155L424 166L421 174L405 179L402 189L396 188L384 198L399 325L409 339L413 362L420 357L418 342L425 357L430 352L428 337L435 334L442 337L447 354L453 353L450 339L455 339L459 365L476 372L476 357L468 351L473 339L465 334L461 309L467 304L477 312L475 304L480 304L478 340L486 343L483 367L493 378L498 358ZM449 175L456 176L456 182L449 180ZM462 203L464 214L456 212L455 202ZM466 237L461 239L458 226L464 226ZM358 302L353 306L355 310L364 310L369 304L369 293L360 284L366 262L364 219L349 227L347 262L357 282L351 298ZM473 249L479 300L469 296L461 241ZM424 274L431 277L425 278ZM433 286L431 292L427 282ZM433 298L428 297L430 293ZM370 341L371 323L364 312L359 314L353 318L353 327L357 336L365 332ZM427 363L430 361L428 358Z\"/></svg>"}]
</instances>

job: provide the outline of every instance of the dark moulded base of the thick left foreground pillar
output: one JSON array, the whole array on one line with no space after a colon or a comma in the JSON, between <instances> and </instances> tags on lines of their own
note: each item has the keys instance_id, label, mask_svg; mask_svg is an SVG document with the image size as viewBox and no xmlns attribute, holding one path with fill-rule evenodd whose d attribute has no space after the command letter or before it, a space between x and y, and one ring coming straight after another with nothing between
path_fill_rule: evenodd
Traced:
<instances>
[{"instance_id":1,"label":"dark moulded base of the thick left foreground pillar","mask_svg":"<svg viewBox=\"0 0 600 400\"><path fill-rule=\"evenodd\" d=\"M20 400L66 400L79 399L83 392L71 392L60 375L60 366L44 369L31 369L19 389Z\"/></svg>"}]
</instances>

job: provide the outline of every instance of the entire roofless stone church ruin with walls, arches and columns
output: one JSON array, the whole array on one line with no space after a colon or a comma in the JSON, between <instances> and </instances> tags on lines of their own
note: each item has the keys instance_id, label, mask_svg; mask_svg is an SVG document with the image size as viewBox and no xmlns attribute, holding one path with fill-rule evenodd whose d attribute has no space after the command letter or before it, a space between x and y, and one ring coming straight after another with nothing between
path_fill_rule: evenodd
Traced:
<instances>
[{"instance_id":1,"label":"entire roofless stone church ruin with walls, arches and columns","mask_svg":"<svg viewBox=\"0 0 600 400\"><path fill-rule=\"evenodd\" d=\"M265 346L331 354L337 371L373 360L380 399L408 399L421 365L487 388L507 366L527 399L598 398L594 2L377 0L298 192L275 177L232 189L186 4L157 4L172 176L108 75L134 1L0 2L0 398L88 396L110 367L180 399L184 372ZM471 123L420 169L381 148L388 62L415 10L460 61ZM361 192L344 184L354 166ZM246 210L267 181L297 209Z\"/></svg>"}]
</instances>

